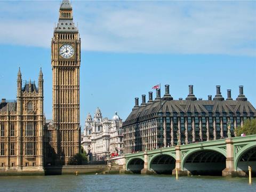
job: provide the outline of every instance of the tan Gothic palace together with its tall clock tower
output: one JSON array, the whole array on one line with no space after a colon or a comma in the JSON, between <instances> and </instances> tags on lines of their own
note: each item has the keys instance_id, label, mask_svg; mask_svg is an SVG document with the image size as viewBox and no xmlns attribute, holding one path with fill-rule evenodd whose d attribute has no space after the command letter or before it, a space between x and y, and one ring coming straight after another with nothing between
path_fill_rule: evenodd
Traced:
<instances>
[{"instance_id":1,"label":"tan Gothic palace together with its tall clock tower","mask_svg":"<svg viewBox=\"0 0 256 192\"><path fill-rule=\"evenodd\" d=\"M36 84L22 83L19 69L16 99L0 102L0 171L43 172L45 165L66 165L79 153L80 47L72 6L63 0L51 43L52 121L44 116L42 70Z\"/></svg>"}]
</instances>

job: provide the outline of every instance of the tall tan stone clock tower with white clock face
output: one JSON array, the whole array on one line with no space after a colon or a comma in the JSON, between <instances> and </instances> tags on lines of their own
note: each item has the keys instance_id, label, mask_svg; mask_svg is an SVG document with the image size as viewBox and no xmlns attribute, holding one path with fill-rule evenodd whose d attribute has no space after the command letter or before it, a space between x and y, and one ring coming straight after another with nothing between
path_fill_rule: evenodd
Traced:
<instances>
[{"instance_id":1,"label":"tall tan stone clock tower with white clock face","mask_svg":"<svg viewBox=\"0 0 256 192\"><path fill-rule=\"evenodd\" d=\"M73 22L72 6L63 0L52 38L52 102L55 127L52 148L67 164L80 149L79 68L81 41Z\"/></svg>"}]
</instances>

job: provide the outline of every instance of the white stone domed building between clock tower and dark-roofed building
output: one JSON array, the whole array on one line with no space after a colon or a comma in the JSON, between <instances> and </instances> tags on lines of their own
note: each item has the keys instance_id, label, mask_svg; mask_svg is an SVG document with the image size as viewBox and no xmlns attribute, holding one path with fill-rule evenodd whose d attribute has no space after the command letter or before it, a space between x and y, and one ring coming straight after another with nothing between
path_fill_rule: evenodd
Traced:
<instances>
[{"instance_id":1,"label":"white stone domed building between clock tower and dark-roofed building","mask_svg":"<svg viewBox=\"0 0 256 192\"><path fill-rule=\"evenodd\" d=\"M81 141L84 150L90 155L90 161L104 160L108 155L122 155L122 119L117 113L112 119L102 118L101 111L97 108L93 119L90 113L86 117Z\"/></svg>"}]
</instances>

